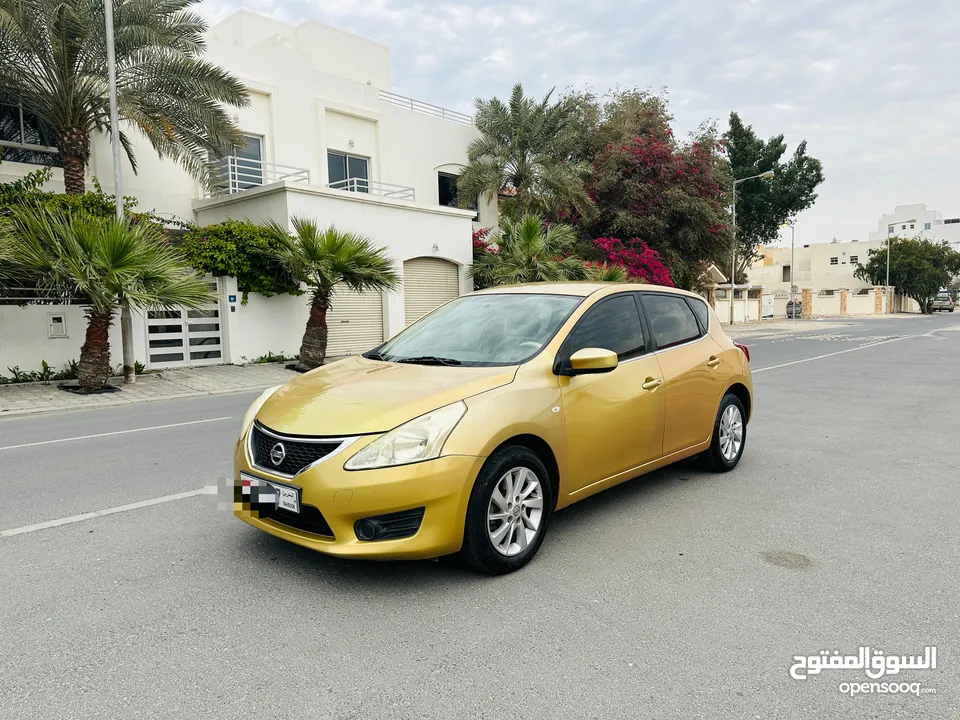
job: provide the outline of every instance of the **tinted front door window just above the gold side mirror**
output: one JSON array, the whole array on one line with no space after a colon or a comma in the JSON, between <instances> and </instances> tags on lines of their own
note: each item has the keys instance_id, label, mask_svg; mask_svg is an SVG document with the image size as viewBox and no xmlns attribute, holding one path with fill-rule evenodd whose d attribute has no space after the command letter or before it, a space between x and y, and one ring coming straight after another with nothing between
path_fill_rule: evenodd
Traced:
<instances>
[{"instance_id":1,"label":"tinted front door window just above the gold side mirror","mask_svg":"<svg viewBox=\"0 0 960 720\"><path fill-rule=\"evenodd\" d=\"M642 355L646 343L633 294L615 295L590 308L570 333L564 347L567 357L588 347L615 352L621 361Z\"/></svg>"}]
</instances>

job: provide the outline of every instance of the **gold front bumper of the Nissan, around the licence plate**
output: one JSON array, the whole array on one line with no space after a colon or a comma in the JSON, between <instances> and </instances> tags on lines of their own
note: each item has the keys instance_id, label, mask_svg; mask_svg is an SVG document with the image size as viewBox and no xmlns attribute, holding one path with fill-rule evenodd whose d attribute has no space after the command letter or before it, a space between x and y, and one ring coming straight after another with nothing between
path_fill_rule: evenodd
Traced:
<instances>
[{"instance_id":1,"label":"gold front bumper of the Nissan, around the licence plate","mask_svg":"<svg viewBox=\"0 0 960 720\"><path fill-rule=\"evenodd\" d=\"M463 543L473 481L484 458L453 455L377 470L344 470L343 464L360 447L358 444L289 479L254 467L247 454L246 438L241 438L234 453L234 514L278 538L338 557L416 560L457 552ZM262 517L242 499L241 473L299 488L301 505L316 508L330 534L294 527L282 518L277 520L276 513ZM356 535L354 525L358 520L416 508L424 509L423 519L409 537L362 541Z\"/></svg>"}]
</instances>

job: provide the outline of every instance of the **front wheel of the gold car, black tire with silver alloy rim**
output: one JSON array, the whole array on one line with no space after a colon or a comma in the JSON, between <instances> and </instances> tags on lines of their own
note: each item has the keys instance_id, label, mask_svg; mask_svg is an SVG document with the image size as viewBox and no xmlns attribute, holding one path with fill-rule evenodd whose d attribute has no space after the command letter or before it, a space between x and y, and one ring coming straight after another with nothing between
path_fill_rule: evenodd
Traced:
<instances>
[{"instance_id":1,"label":"front wheel of the gold car, black tire with silver alloy rim","mask_svg":"<svg viewBox=\"0 0 960 720\"><path fill-rule=\"evenodd\" d=\"M500 448L484 463L467 505L460 555L476 570L503 575L543 544L553 508L549 475L529 448Z\"/></svg>"}]
</instances>

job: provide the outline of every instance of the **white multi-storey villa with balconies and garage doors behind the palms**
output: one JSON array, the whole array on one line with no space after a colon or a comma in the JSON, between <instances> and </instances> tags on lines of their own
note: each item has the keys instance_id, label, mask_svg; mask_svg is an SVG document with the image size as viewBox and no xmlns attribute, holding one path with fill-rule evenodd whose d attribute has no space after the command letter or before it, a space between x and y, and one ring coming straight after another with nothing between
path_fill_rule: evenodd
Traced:
<instances>
[{"instance_id":1,"label":"white multi-storey villa with balconies and garage doors behind the palms","mask_svg":"<svg viewBox=\"0 0 960 720\"><path fill-rule=\"evenodd\" d=\"M307 216L385 246L403 287L383 296L336 295L332 356L374 347L472 289L471 232L494 225L496 207L456 207L456 176L477 135L470 116L391 93L389 48L322 23L294 27L239 11L211 28L208 43L207 58L249 91L250 105L235 115L245 146L223 161L210 193L142 139L138 174L126 158L122 174L123 194L136 196L138 209L198 225L234 218L289 227L294 216ZM31 139L29 122L19 137L0 136L9 151L0 182L37 169L12 159L55 164ZM106 136L95 139L87 178L88 185L98 178L107 193L111 152ZM62 172L53 172L50 189L62 191ZM185 367L299 350L305 298L251 294L244 305L233 278L211 282L221 299L208 310L135 317L137 360L148 368ZM0 305L0 369L77 358L85 327L77 305ZM119 323L111 351L119 364Z\"/></svg>"}]
</instances>

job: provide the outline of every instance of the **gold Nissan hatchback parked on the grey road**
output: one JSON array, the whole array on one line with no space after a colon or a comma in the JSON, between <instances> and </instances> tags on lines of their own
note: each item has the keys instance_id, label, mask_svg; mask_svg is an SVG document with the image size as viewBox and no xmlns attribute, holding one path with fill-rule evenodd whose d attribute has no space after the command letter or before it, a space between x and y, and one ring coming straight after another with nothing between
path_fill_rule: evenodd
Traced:
<instances>
[{"instance_id":1,"label":"gold Nissan hatchback parked on the grey road","mask_svg":"<svg viewBox=\"0 0 960 720\"><path fill-rule=\"evenodd\" d=\"M516 570L551 514L699 455L743 454L749 354L697 295L536 284L453 300L272 388L235 452L235 513L351 558L459 552Z\"/></svg>"}]
</instances>

